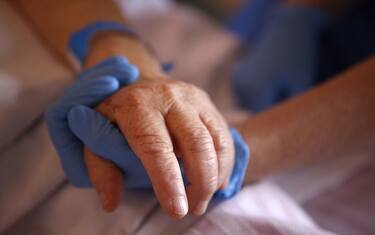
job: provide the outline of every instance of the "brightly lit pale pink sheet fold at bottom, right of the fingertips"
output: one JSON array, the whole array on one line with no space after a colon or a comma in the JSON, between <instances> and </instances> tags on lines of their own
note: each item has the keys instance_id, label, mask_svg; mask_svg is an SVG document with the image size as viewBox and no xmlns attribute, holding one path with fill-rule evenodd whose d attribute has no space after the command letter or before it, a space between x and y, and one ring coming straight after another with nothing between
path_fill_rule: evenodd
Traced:
<instances>
[{"instance_id":1,"label":"brightly lit pale pink sheet fold at bottom, right of the fingertips","mask_svg":"<svg viewBox=\"0 0 375 235\"><path fill-rule=\"evenodd\" d=\"M247 187L201 218L186 235L328 235L272 184Z\"/></svg>"}]
</instances>

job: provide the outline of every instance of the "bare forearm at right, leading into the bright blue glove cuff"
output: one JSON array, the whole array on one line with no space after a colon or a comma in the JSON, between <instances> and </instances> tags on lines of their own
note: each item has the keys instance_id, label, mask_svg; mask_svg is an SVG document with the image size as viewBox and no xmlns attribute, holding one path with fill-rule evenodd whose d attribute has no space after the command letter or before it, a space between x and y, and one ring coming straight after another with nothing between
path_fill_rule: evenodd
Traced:
<instances>
[{"instance_id":1,"label":"bare forearm at right, leading into the bright blue glove cuff","mask_svg":"<svg viewBox=\"0 0 375 235\"><path fill-rule=\"evenodd\" d=\"M375 57L248 120L246 180L360 151L375 143Z\"/></svg>"}]
</instances>

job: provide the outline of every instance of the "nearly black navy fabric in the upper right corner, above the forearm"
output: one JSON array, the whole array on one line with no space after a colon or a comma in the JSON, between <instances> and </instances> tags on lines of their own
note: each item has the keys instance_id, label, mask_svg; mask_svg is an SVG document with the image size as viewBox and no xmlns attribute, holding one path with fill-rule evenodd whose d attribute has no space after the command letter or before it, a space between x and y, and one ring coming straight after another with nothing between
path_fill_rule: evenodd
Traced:
<instances>
[{"instance_id":1,"label":"nearly black navy fabric in the upper right corner, above the forearm","mask_svg":"<svg viewBox=\"0 0 375 235\"><path fill-rule=\"evenodd\" d=\"M324 81L375 54L375 2L363 1L322 32L319 80Z\"/></svg>"}]
</instances>

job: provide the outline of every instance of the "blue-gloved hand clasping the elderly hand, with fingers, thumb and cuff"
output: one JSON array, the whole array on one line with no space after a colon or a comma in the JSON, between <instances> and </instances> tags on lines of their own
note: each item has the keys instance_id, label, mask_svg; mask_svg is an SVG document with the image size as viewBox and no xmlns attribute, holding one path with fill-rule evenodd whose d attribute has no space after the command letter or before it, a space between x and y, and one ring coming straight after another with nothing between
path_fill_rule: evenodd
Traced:
<instances>
[{"instance_id":1,"label":"blue-gloved hand clasping the elderly hand, with fingers, thumb and cuff","mask_svg":"<svg viewBox=\"0 0 375 235\"><path fill-rule=\"evenodd\" d=\"M123 135L107 119L88 107L96 106L120 86L134 82L137 76L137 69L126 59L108 59L81 73L78 81L47 111L46 119L52 141L65 174L73 185L91 186L83 161L84 143L123 171L126 188L152 187L140 160ZM248 147L240 134L234 129L231 134L235 144L235 163L227 187L216 192L217 199L232 197L241 189L249 159Z\"/></svg>"}]
</instances>

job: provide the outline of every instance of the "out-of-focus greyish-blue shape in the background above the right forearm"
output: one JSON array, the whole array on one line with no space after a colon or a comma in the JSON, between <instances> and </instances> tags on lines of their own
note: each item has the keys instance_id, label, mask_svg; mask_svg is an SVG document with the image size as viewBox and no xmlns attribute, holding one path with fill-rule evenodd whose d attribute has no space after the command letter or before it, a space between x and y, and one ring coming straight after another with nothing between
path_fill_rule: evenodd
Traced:
<instances>
[{"instance_id":1,"label":"out-of-focus greyish-blue shape in the background above the right forearm","mask_svg":"<svg viewBox=\"0 0 375 235\"><path fill-rule=\"evenodd\" d=\"M319 9L276 5L258 43L235 69L240 104L260 111L310 88L318 70L318 37L327 21Z\"/></svg>"}]
</instances>

